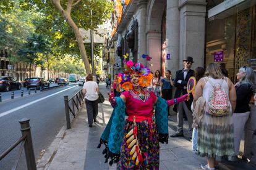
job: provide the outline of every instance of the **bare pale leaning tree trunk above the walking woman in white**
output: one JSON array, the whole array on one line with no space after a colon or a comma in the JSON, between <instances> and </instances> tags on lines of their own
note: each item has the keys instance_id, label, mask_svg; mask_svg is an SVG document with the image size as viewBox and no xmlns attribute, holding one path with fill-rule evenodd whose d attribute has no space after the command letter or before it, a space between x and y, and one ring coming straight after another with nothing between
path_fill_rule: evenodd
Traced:
<instances>
[{"instance_id":1,"label":"bare pale leaning tree trunk above the walking woman in white","mask_svg":"<svg viewBox=\"0 0 256 170\"><path fill-rule=\"evenodd\" d=\"M83 60L83 64L85 65L85 70L87 72L87 74L92 73L92 70L90 68L90 64L88 61L88 57L87 57L87 53L85 51L85 46L83 44L83 39L82 36L79 32L79 28L77 27L77 25L75 24L75 22L72 20L71 15L70 15L70 10L71 10L71 5L72 5L72 1L69 1L67 4L69 8L69 10L64 10L59 2L59 0L52 0L54 6L59 10L59 12L61 13L61 15L66 19L67 23L69 24L69 26L71 26L72 30L75 33L75 38L77 39L77 44L79 46L79 50L82 56L82 60ZM71 3L71 4L70 4Z\"/></svg>"}]
</instances>

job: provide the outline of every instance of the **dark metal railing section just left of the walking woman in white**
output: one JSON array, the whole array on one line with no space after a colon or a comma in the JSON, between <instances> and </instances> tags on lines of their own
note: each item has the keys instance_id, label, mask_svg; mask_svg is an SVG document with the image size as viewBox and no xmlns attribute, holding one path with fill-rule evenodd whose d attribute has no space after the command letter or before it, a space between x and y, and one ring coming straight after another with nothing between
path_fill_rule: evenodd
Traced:
<instances>
[{"instance_id":1,"label":"dark metal railing section just left of the walking woman in white","mask_svg":"<svg viewBox=\"0 0 256 170\"><path fill-rule=\"evenodd\" d=\"M75 115L79 111L80 106L83 103L83 92L82 89L73 95L70 99L67 95L64 96L64 103L65 103L65 112L66 112L66 121L67 121L67 129L70 129L71 122L75 118ZM72 113L73 118L70 120L70 113Z\"/></svg>"}]
</instances>

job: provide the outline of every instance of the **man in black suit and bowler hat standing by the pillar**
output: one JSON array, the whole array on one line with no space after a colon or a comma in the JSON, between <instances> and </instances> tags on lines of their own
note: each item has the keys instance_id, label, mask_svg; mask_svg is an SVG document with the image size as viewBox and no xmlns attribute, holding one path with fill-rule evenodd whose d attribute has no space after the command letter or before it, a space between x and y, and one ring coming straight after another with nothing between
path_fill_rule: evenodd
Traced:
<instances>
[{"instance_id":1,"label":"man in black suit and bowler hat standing by the pillar","mask_svg":"<svg viewBox=\"0 0 256 170\"><path fill-rule=\"evenodd\" d=\"M176 78L174 79L174 86L176 87L176 91L174 94L174 98L180 97L181 95L187 94L187 81L191 76L194 76L194 70L191 70L191 66L193 62L192 57L187 57L186 60L183 60L184 69L178 70L176 72ZM189 122L189 131L192 130L193 116L191 111L191 103L193 101L192 95L190 95L189 101L181 102L179 104L174 105L173 110L177 112L177 131L175 134L171 135L171 137L179 137L183 136L183 115L184 112L187 116L187 121Z\"/></svg>"}]
</instances>

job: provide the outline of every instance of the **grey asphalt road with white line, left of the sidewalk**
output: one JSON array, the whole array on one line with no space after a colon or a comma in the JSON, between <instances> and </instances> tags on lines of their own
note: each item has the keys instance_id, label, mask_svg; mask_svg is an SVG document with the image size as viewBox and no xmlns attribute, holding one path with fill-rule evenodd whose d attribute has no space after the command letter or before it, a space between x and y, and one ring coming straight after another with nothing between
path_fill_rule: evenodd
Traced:
<instances>
[{"instance_id":1,"label":"grey asphalt road with white line, left of the sidewalk","mask_svg":"<svg viewBox=\"0 0 256 170\"><path fill-rule=\"evenodd\" d=\"M48 148L66 121L63 96L72 97L81 88L82 86L70 84L0 102L0 153L21 137L19 120L30 118L35 157L39 158L41 150ZM0 161L0 169L12 168L18 149L16 147ZM27 169L24 154L17 169Z\"/></svg>"}]
</instances>

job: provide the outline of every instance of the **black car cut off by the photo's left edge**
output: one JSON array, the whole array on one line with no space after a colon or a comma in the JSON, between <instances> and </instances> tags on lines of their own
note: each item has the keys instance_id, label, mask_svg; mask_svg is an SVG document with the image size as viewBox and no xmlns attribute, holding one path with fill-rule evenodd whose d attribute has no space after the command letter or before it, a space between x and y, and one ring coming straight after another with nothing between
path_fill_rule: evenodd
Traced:
<instances>
[{"instance_id":1,"label":"black car cut off by the photo's left edge","mask_svg":"<svg viewBox=\"0 0 256 170\"><path fill-rule=\"evenodd\" d=\"M19 90L21 87L22 84L11 76L0 76L0 91Z\"/></svg>"}]
</instances>

